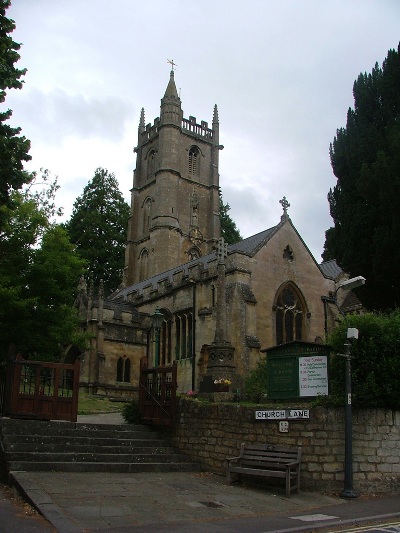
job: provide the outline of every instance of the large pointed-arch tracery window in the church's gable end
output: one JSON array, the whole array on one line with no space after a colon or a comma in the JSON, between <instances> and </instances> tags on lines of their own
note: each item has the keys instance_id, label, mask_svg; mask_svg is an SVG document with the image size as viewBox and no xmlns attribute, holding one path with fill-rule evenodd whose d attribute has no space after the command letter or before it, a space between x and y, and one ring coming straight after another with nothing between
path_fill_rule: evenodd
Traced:
<instances>
[{"instance_id":1,"label":"large pointed-arch tracery window in the church's gable end","mask_svg":"<svg viewBox=\"0 0 400 533\"><path fill-rule=\"evenodd\" d=\"M303 338L305 305L293 284L284 285L275 303L276 344L299 341Z\"/></svg>"}]
</instances>

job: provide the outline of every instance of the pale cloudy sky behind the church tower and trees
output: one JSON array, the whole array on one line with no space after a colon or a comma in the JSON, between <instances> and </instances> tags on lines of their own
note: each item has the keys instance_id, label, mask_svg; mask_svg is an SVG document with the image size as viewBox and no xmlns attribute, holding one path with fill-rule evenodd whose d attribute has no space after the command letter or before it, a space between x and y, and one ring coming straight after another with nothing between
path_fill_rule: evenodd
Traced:
<instances>
[{"instance_id":1,"label":"pale cloudy sky behind the church tower and trees","mask_svg":"<svg viewBox=\"0 0 400 533\"><path fill-rule=\"evenodd\" d=\"M220 186L243 237L288 214L321 261L336 184L329 145L353 83L400 41L398 0L13 0L22 90L5 104L31 141L27 170L58 177L68 220L96 168L130 203L146 123L176 63L184 117L220 120Z\"/></svg>"}]
</instances>

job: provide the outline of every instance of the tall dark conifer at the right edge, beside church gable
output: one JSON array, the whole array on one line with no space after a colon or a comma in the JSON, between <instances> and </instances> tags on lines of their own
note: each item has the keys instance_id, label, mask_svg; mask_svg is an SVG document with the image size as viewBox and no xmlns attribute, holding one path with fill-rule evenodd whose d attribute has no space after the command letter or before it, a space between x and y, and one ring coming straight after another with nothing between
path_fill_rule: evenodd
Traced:
<instances>
[{"instance_id":1,"label":"tall dark conifer at the right edge, beside church gable","mask_svg":"<svg viewBox=\"0 0 400 533\"><path fill-rule=\"evenodd\" d=\"M367 279L364 305L391 309L400 306L400 45L382 68L359 75L353 95L330 146L337 184L328 194L334 226L323 258Z\"/></svg>"}]
</instances>

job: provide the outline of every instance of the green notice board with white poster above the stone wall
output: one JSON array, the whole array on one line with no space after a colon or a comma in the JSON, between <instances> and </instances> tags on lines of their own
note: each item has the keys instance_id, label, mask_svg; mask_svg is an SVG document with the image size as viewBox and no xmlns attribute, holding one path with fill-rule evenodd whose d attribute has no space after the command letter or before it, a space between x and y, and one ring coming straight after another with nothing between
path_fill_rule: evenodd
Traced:
<instances>
[{"instance_id":1,"label":"green notice board with white poster above the stone wall","mask_svg":"<svg viewBox=\"0 0 400 533\"><path fill-rule=\"evenodd\" d=\"M267 353L269 398L309 398L328 394L327 346L295 341L262 351Z\"/></svg>"}]
</instances>

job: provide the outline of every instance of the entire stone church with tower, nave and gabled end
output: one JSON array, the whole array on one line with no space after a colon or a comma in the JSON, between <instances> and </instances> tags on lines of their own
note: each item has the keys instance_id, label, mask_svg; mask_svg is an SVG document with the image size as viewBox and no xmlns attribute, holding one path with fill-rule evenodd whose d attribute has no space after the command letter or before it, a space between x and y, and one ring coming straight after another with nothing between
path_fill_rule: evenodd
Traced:
<instances>
[{"instance_id":1,"label":"entire stone church with tower, nave and gabled end","mask_svg":"<svg viewBox=\"0 0 400 533\"><path fill-rule=\"evenodd\" d=\"M334 327L346 275L317 263L286 198L275 226L229 246L220 238L222 148L217 106L211 124L185 118L172 69L160 116L146 124L141 111L123 282L107 297L79 287L87 391L135 396L142 357L149 367L176 361L178 392L198 391L210 372L240 387L261 349L321 344Z\"/></svg>"}]
</instances>

